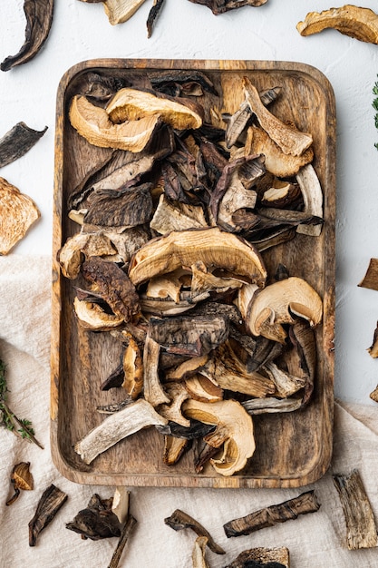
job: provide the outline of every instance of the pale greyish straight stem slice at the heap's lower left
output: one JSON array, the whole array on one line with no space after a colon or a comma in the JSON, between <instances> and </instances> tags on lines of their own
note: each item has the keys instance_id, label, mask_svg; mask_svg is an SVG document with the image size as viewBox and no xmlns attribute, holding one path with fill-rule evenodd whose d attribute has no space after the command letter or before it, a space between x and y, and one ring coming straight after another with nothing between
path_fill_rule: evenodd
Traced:
<instances>
[{"instance_id":1,"label":"pale greyish straight stem slice at the heap's lower left","mask_svg":"<svg viewBox=\"0 0 378 568\"><path fill-rule=\"evenodd\" d=\"M141 398L119 412L106 417L74 446L85 464L91 464L97 455L127 436L148 426L166 426L168 420L160 416L147 400Z\"/></svg>"}]
</instances>

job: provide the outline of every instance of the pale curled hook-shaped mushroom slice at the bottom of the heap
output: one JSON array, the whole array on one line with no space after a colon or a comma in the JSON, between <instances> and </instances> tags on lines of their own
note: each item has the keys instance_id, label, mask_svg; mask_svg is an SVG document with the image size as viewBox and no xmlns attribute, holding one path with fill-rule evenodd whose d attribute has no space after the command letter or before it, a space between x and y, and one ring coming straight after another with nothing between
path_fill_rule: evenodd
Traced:
<instances>
[{"instance_id":1,"label":"pale curled hook-shaped mushroom slice at the bottom of the heap","mask_svg":"<svg viewBox=\"0 0 378 568\"><path fill-rule=\"evenodd\" d=\"M222 455L210 460L220 475L234 475L247 464L255 452L252 418L235 400L214 403L186 400L182 406L185 416L205 424L217 425L214 433L205 436L210 446L223 446Z\"/></svg>"}]
</instances>

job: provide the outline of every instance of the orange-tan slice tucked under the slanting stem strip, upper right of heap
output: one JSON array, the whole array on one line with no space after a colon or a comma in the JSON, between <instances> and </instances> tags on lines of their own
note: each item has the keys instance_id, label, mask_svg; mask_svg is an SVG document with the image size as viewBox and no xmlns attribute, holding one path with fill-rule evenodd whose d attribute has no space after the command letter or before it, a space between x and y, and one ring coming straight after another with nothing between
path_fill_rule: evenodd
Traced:
<instances>
[{"instance_id":1,"label":"orange-tan slice tucked under the slanting stem strip, upper right of heap","mask_svg":"<svg viewBox=\"0 0 378 568\"><path fill-rule=\"evenodd\" d=\"M294 175L306 163L312 162L314 158L312 147L307 148L299 156L282 152L267 132L257 126L248 128L245 153L264 154L267 171L270 171L278 178Z\"/></svg>"}]
</instances>

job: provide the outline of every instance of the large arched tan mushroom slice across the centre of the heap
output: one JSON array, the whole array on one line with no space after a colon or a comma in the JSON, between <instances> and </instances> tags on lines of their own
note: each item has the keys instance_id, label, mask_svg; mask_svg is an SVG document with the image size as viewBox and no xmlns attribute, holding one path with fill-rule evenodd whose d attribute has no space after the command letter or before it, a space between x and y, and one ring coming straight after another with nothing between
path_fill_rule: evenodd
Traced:
<instances>
[{"instance_id":1,"label":"large arched tan mushroom slice across the centre of the heap","mask_svg":"<svg viewBox=\"0 0 378 568\"><path fill-rule=\"evenodd\" d=\"M255 247L218 227L172 231L150 240L131 259L129 276L138 286L157 274L189 267L198 260L208 267L226 269L233 276L244 276L258 286L267 279L264 261Z\"/></svg>"}]
</instances>

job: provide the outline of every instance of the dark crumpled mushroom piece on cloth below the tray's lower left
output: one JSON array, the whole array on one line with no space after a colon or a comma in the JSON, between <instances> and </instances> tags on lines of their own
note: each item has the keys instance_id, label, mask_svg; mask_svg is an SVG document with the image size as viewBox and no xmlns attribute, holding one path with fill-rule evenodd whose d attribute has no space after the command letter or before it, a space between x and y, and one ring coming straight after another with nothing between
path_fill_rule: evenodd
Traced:
<instances>
[{"instance_id":1,"label":"dark crumpled mushroom piece on cloth below the tray's lower left","mask_svg":"<svg viewBox=\"0 0 378 568\"><path fill-rule=\"evenodd\" d=\"M75 515L65 528L82 535L83 539L98 541L121 535L121 523L111 510L112 499L102 499L94 494L85 509Z\"/></svg>"}]
</instances>

